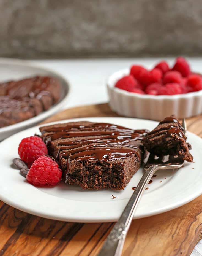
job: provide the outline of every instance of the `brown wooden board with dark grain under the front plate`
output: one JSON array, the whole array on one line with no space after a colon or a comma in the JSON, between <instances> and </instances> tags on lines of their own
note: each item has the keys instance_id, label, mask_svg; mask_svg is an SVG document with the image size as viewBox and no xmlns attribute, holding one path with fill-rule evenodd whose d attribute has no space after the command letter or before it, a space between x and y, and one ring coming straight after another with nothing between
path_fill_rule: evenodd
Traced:
<instances>
[{"instance_id":1,"label":"brown wooden board with dark grain under the front plate","mask_svg":"<svg viewBox=\"0 0 202 256\"><path fill-rule=\"evenodd\" d=\"M68 118L118 116L108 104L64 110L45 122ZM202 116L187 120L202 135ZM202 184L201 184L202 185ZM44 219L0 201L0 256L94 256L114 223L70 223ZM175 210L133 220L123 256L187 256L201 239L202 196ZM107 256L107 255L106 255Z\"/></svg>"}]
</instances>

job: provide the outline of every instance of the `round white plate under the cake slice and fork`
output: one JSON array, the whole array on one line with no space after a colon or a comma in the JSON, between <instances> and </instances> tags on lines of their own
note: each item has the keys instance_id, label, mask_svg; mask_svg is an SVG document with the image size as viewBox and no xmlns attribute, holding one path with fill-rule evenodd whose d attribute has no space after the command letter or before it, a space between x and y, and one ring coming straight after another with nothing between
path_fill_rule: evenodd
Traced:
<instances>
[{"instance_id":1,"label":"round white plate under the cake slice and fork","mask_svg":"<svg viewBox=\"0 0 202 256\"><path fill-rule=\"evenodd\" d=\"M80 120L114 123L132 129L151 130L157 125L154 121L120 117L78 118L61 123ZM19 170L12 167L12 160L18 157L17 148L21 139L35 133L39 133L38 126L21 131L0 143L0 199L17 209L50 219L72 222L118 220L133 193L132 187L137 186L143 174L143 168L122 191L83 190L63 182L55 187L34 187L26 182ZM188 138L193 147L195 163L186 163L177 171L158 171L157 177L148 184L149 189L145 190L134 218L169 211L202 194L202 139L189 132ZM116 198L112 199L111 195Z\"/></svg>"}]
</instances>

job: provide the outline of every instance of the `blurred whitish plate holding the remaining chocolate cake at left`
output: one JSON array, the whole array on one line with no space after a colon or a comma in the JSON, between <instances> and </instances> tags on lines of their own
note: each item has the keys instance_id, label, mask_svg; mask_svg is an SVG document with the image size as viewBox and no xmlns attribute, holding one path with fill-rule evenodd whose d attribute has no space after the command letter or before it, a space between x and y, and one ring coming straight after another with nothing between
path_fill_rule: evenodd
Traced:
<instances>
[{"instance_id":1,"label":"blurred whitish plate holding the remaining chocolate cake at left","mask_svg":"<svg viewBox=\"0 0 202 256\"><path fill-rule=\"evenodd\" d=\"M69 97L70 92L70 85L69 82L67 82L67 80L61 75L57 74L54 71L43 69L37 65L30 64L29 61L26 60L9 60L0 58L0 82L18 80L36 75L54 76L60 80L62 85L60 100L50 109L40 113L36 117L30 118L20 123L0 128L0 141L14 133L17 133L18 131L23 130L24 128L28 128L42 122L42 120L44 120L45 118L58 112L59 109L61 109L61 107L67 102L67 97Z\"/></svg>"}]
</instances>

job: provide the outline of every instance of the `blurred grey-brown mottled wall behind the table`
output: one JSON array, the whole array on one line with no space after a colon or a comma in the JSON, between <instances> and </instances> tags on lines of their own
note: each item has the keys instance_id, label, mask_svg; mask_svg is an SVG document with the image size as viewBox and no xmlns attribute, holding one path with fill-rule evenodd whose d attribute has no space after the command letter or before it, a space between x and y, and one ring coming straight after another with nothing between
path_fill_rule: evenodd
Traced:
<instances>
[{"instance_id":1,"label":"blurred grey-brown mottled wall behind the table","mask_svg":"<svg viewBox=\"0 0 202 256\"><path fill-rule=\"evenodd\" d=\"M0 56L202 55L201 0L0 0Z\"/></svg>"}]
</instances>

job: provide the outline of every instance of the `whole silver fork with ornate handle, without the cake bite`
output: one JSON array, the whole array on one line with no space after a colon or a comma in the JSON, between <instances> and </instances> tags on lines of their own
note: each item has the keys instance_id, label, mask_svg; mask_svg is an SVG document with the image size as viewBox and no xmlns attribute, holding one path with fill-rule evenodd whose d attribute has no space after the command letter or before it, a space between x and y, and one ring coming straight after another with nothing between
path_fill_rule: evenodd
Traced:
<instances>
[{"instance_id":1,"label":"whole silver fork with ornate handle, without the cake bite","mask_svg":"<svg viewBox=\"0 0 202 256\"><path fill-rule=\"evenodd\" d=\"M183 119L182 126L186 132L186 122ZM129 230L130 224L133 219L135 210L137 209L140 198L146 188L151 177L154 173L159 170L167 169L178 169L184 165L184 160L179 157L163 157L155 158L154 155L150 155L147 163L144 166L146 170L141 177L135 191L130 197L127 205L125 206L124 211L121 214L118 222L114 225L113 229L109 233L103 247L97 256L121 256L122 249L125 242L125 237Z\"/></svg>"}]
</instances>

